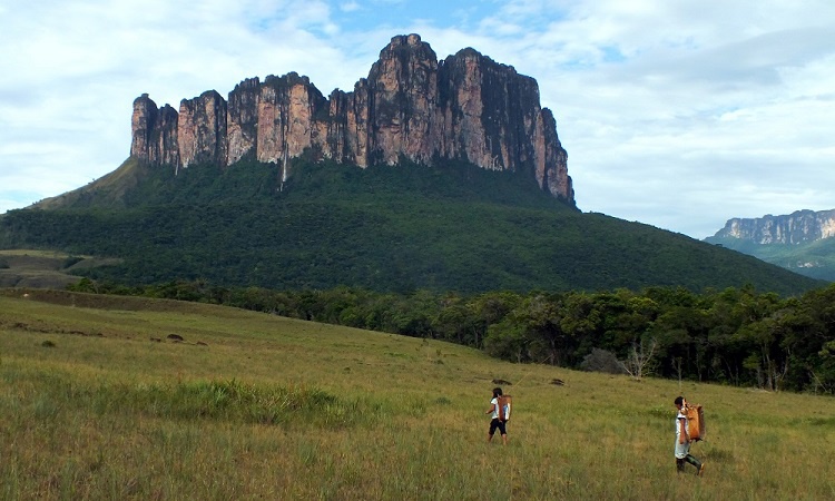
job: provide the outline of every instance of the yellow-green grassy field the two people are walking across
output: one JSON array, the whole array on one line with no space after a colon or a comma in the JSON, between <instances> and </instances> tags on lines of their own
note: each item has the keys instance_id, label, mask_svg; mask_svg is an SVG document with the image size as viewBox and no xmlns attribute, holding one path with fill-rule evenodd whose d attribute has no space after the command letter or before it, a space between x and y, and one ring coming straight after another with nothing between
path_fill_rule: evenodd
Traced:
<instances>
[{"instance_id":1,"label":"yellow-green grassy field the two people are walking across","mask_svg":"<svg viewBox=\"0 0 835 501\"><path fill-rule=\"evenodd\" d=\"M512 383L507 446L485 440L495 379ZM706 409L703 478L676 474L679 393ZM0 289L4 500L823 500L835 498L834 450L832 397L514 365L209 305Z\"/></svg>"}]
</instances>

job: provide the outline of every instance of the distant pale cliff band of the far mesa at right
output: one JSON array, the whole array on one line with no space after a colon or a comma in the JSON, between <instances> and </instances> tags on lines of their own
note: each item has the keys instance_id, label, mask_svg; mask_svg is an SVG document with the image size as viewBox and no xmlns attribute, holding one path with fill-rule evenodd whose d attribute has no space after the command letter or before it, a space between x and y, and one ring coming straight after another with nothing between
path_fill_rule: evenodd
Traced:
<instances>
[{"instance_id":1,"label":"distant pale cliff band of the far mesa at right","mask_svg":"<svg viewBox=\"0 0 835 501\"><path fill-rule=\"evenodd\" d=\"M835 209L797 210L785 216L728 219L713 239L738 238L756 244L803 244L835 236Z\"/></svg>"}]
</instances>

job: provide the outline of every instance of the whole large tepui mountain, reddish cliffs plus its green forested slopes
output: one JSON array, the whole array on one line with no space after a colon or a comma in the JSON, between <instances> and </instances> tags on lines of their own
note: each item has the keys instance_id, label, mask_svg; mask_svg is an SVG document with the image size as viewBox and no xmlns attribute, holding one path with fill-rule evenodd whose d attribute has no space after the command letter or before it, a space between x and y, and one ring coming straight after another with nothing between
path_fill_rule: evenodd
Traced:
<instances>
[{"instance_id":1,"label":"whole large tepui mountain, reddish cliffs plus its green forested slopes","mask_svg":"<svg viewBox=\"0 0 835 501\"><path fill-rule=\"evenodd\" d=\"M107 257L73 273L119 284L406 293L750 284L780 294L819 285L685 235L581 213L537 81L472 48L439 60L418 35L392 38L351 91L325 97L288 72L177 109L141 95L130 119L121 166L0 216L0 248Z\"/></svg>"}]
</instances>

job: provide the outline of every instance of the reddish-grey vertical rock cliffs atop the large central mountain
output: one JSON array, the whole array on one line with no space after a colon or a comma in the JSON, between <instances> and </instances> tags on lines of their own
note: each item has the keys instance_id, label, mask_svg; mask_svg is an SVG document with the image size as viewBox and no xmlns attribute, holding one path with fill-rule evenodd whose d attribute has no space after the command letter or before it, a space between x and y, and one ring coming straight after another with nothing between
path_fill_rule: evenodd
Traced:
<instances>
[{"instance_id":1,"label":"reddish-grey vertical rock cliffs atop the large central mountain","mask_svg":"<svg viewBox=\"0 0 835 501\"><path fill-rule=\"evenodd\" d=\"M392 38L350 92L325 98L291 72L246 79L228 102L214 90L184 99L179 112L143 95L131 122L130 155L175 173L247 155L283 166L307 148L360 167L463 159L532 176L574 203L568 155L537 81L471 48L439 62L418 35Z\"/></svg>"}]
</instances>

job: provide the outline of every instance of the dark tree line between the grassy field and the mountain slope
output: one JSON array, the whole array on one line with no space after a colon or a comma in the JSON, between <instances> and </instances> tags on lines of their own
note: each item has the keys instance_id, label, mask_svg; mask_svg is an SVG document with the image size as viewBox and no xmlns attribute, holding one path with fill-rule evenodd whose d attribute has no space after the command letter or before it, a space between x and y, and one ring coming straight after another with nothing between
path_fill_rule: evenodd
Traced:
<instances>
[{"instance_id":1,"label":"dark tree line between the grassy field and the mountain slope","mask_svg":"<svg viewBox=\"0 0 835 501\"><path fill-rule=\"evenodd\" d=\"M694 293L379 293L273 291L174 281L137 287L82 278L78 292L240 307L483 350L517 363L757 386L835 391L835 285L799 296L752 286Z\"/></svg>"}]
</instances>

